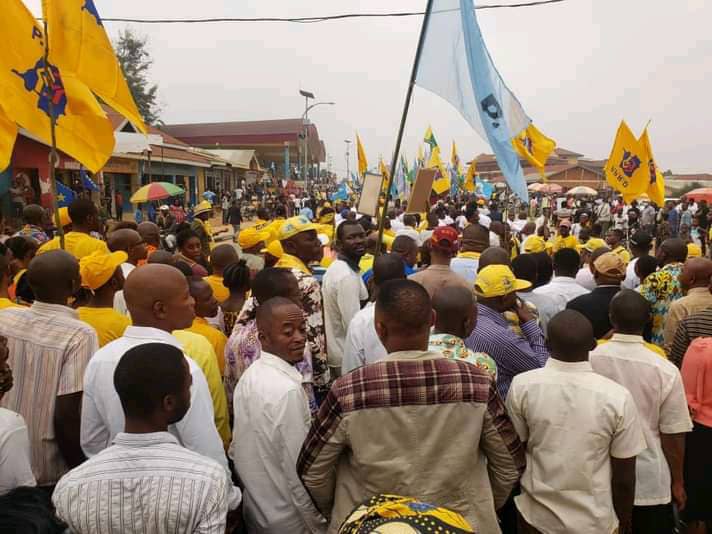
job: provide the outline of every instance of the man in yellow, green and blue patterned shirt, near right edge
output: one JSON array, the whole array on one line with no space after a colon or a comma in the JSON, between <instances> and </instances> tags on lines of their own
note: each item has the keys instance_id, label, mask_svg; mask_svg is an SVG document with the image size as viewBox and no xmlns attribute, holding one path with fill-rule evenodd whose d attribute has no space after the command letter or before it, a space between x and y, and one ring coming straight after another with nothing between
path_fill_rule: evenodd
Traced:
<instances>
[{"instance_id":1,"label":"man in yellow, green and blue patterned shirt, near right edge","mask_svg":"<svg viewBox=\"0 0 712 534\"><path fill-rule=\"evenodd\" d=\"M670 306L682 298L680 274L687 259L687 244L682 239L666 239L656 251L655 258L660 268L640 284L640 294L650 303L653 313L651 341L659 347L665 342L665 318Z\"/></svg>"}]
</instances>

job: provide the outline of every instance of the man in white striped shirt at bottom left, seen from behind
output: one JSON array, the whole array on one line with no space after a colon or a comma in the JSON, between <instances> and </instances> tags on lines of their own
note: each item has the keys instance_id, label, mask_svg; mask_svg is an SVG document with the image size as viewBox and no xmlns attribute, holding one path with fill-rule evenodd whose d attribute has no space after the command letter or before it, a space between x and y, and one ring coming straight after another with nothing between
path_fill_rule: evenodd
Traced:
<instances>
[{"instance_id":1,"label":"man in white striped shirt at bottom left, seen from behind","mask_svg":"<svg viewBox=\"0 0 712 534\"><path fill-rule=\"evenodd\" d=\"M190 409L191 383L176 347L148 343L124 354L113 376L123 432L62 477L52 496L72 532L225 532L229 474L168 432Z\"/></svg>"}]
</instances>

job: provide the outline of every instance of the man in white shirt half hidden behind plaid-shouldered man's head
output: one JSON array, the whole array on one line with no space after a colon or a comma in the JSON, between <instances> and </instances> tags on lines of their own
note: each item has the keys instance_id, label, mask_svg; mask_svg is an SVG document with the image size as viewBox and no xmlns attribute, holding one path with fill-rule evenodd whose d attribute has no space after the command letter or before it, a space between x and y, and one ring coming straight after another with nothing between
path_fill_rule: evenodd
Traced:
<instances>
[{"instance_id":1,"label":"man in white shirt half hidden behind plaid-shouldered man's head","mask_svg":"<svg viewBox=\"0 0 712 534\"><path fill-rule=\"evenodd\" d=\"M373 262L373 298L378 296L379 288L389 280L405 278L405 265L397 254L378 256ZM366 364L383 360L387 355L374 326L375 306L373 302L359 311L349 324L344 344L344 361L341 364L343 374Z\"/></svg>"}]
</instances>

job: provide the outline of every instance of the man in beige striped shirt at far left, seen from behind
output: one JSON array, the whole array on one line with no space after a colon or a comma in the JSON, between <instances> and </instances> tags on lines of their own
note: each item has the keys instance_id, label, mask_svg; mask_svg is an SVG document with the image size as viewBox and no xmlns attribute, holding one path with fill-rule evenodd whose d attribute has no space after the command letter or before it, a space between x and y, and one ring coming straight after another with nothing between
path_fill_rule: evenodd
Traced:
<instances>
[{"instance_id":1,"label":"man in beige striped shirt at far left, seen from behind","mask_svg":"<svg viewBox=\"0 0 712 534\"><path fill-rule=\"evenodd\" d=\"M39 486L54 486L84 461L79 413L84 370L98 349L94 329L67 306L80 286L79 262L62 250L35 257L27 270L35 302L0 311L15 386L2 407L27 421L32 471Z\"/></svg>"}]
</instances>

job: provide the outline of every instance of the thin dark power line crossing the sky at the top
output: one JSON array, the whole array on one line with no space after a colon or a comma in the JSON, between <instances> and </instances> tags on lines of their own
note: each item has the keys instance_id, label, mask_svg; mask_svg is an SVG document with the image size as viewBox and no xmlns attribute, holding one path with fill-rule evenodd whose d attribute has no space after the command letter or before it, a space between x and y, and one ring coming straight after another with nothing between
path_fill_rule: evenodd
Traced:
<instances>
[{"instance_id":1,"label":"thin dark power line crossing the sky at the top","mask_svg":"<svg viewBox=\"0 0 712 534\"><path fill-rule=\"evenodd\" d=\"M559 4L567 0L538 0L533 2L520 2L517 4L488 4L477 6L475 9L511 9L522 7L543 6L547 4ZM457 10L453 10L457 11ZM394 17L416 17L425 15L424 11L404 11L400 13L344 13L341 15L327 15L323 17L296 17L296 18L281 18L281 17L258 17L258 18L240 18L240 17L216 17L204 19L133 19L133 18L105 18L104 22L128 22L132 24L204 24L204 23L221 23L221 22L293 22L299 24L313 24L317 22L329 22L334 20L346 19L375 19L375 18L394 18Z\"/></svg>"}]
</instances>

